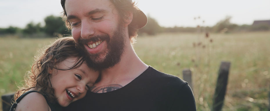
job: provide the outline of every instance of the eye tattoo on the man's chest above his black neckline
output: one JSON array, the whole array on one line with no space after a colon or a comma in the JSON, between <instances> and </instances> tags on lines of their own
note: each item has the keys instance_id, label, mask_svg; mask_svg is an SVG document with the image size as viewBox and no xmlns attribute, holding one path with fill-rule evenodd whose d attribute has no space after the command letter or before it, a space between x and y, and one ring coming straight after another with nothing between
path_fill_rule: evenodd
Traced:
<instances>
[{"instance_id":1,"label":"eye tattoo on the man's chest above his black neckline","mask_svg":"<svg viewBox=\"0 0 270 111\"><path fill-rule=\"evenodd\" d=\"M123 86L121 86L120 84L110 84L107 86L100 86L100 87L92 86L93 89L91 89L91 92L93 92L93 93L106 93L106 92L120 89L122 87Z\"/></svg>"}]
</instances>

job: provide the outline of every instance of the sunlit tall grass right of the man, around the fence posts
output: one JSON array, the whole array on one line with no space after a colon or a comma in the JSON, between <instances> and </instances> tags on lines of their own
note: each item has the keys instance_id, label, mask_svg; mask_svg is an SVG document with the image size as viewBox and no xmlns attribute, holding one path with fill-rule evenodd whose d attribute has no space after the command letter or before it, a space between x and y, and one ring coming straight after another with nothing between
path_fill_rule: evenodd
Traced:
<instances>
[{"instance_id":1,"label":"sunlit tall grass right of the man, around the fence posts","mask_svg":"<svg viewBox=\"0 0 270 111\"><path fill-rule=\"evenodd\" d=\"M230 61L223 110L266 111L269 104L270 32L210 33L208 38L200 34L200 45L197 36L168 33L140 37L135 51L146 64L180 78L183 77L182 70L190 68L198 111L210 111L220 62Z\"/></svg>"}]
</instances>

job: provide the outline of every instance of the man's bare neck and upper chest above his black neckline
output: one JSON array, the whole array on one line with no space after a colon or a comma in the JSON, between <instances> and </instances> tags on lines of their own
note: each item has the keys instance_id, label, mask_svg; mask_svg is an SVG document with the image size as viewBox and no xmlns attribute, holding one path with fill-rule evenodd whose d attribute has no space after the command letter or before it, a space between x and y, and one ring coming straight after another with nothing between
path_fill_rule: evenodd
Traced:
<instances>
[{"instance_id":1,"label":"man's bare neck and upper chest above his black neckline","mask_svg":"<svg viewBox=\"0 0 270 111\"><path fill-rule=\"evenodd\" d=\"M104 93L119 89L141 75L148 66L139 59L131 44L127 44L121 60L114 67L102 70L100 82L91 90L94 93ZM102 89L102 88L111 89Z\"/></svg>"}]
</instances>

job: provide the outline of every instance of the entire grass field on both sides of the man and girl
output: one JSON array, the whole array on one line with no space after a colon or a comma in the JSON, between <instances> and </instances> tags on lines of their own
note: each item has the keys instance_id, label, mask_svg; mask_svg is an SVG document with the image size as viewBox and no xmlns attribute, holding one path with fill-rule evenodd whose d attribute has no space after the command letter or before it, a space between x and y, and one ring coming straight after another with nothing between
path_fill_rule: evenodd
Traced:
<instances>
[{"instance_id":1,"label":"entire grass field on both sides of the man and girl","mask_svg":"<svg viewBox=\"0 0 270 111\"><path fill-rule=\"evenodd\" d=\"M53 41L0 38L0 95L17 90L34 55ZM210 111L221 61L231 62L223 111L268 110L270 32L210 33L208 38L164 33L139 36L134 48L142 61L159 71L182 78L182 70L190 68L198 111Z\"/></svg>"}]
</instances>

